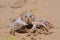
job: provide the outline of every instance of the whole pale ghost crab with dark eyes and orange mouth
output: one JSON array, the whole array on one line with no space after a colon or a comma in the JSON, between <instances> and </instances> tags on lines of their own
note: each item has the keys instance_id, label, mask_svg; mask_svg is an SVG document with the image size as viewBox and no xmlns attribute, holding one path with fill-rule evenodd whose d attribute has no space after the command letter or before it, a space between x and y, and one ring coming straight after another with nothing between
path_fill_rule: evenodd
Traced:
<instances>
[{"instance_id":1,"label":"whole pale ghost crab with dark eyes and orange mouth","mask_svg":"<svg viewBox=\"0 0 60 40\"><path fill-rule=\"evenodd\" d=\"M49 28L53 28L52 27L52 24L50 24L45 18L36 18L34 15L32 15L31 13L23 13L23 14L20 14L21 18L15 18L11 21L11 32L14 34L15 32L15 29L16 29L16 26L19 26L18 28L21 29L23 26L26 27L26 25L29 25L27 26L28 28L31 27L30 24L32 24L32 27L30 28L30 31L29 31L29 35L30 33L34 32L36 30L37 27L44 27L46 32L48 33L49 32ZM29 30L29 29L28 29ZM26 31L28 31L26 30ZM10 34L11 34L10 32Z\"/></svg>"}]
</instances>

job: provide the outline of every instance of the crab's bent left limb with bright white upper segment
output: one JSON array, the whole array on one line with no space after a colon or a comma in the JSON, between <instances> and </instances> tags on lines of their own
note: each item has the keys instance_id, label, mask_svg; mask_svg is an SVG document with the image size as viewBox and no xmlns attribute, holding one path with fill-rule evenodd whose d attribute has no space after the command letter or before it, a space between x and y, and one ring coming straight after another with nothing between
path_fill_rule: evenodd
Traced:
<instances>
[{"instance_id":1,"label":"crab's bent left limb with bright white upper segment","mask_svg":"<svg viewBox=\"0 0 60 40\"><path fill-rule=\"evenodd\" d=\"M10 34L15 35L15 30L21 29L23 26L28 25L26 22L22 21L20 18L17 18L15 21L10 23Z\"/></svg>"}]
</instances>

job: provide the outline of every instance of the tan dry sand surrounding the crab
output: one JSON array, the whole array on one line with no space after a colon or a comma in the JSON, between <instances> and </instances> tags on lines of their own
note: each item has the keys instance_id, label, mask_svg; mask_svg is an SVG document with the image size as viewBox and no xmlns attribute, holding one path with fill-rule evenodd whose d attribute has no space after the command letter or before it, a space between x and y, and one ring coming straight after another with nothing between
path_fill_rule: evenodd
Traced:
<instances>
[{"instance_id":1,"label":"tan dry sand surrounding the crab","mask_svg":"<svg viewBox=\"0 0 60 40\"><path fill-rule=\"evenodd\" d=\"M54 33L25 37L27 33L9 35L10 18L24 11L47 18L54 25ZM60 40L60 0L0 0L0 40Z\"/></svg>"}]
</instances>

